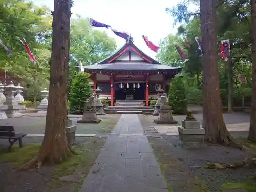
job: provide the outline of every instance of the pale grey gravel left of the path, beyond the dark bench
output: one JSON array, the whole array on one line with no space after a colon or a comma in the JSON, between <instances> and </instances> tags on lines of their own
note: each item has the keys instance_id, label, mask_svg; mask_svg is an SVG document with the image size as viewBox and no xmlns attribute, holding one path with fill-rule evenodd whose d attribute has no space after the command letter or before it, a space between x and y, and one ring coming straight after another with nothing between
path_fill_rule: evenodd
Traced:
<instances>
[{"instance_id":1,"label":"pale grey gravel left of the path, beyond the dark bench","mask_svg":"<svg viewBox=\"0 0 256 192\"><path fill-rule=\"evenodd\" d=\"M71 118L73 124L77 125L76 133L111 133L120 118L120 114L105 115L98 124L76 123L80 118L81 116ZM0 125L14 126L17 134L43 134L45 132L45 121L45 117L19 117L14 119L1 119Z\"/></svg>"}]
</instances>

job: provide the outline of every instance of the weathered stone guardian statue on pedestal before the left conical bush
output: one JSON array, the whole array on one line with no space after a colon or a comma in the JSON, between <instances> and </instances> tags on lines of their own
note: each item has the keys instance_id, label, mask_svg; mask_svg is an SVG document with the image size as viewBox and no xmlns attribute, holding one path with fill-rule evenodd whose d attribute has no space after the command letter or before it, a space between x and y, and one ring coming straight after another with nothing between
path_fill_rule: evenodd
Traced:
<instances>
[{"instance_id":1,"label":"weathered stone guardian statue on pedestal before the left conical bush","mask_svg":"<svg viewBox=\"0 0 256 192\"><path fill-rule=\"evenodd\" d=\"M99 123L101 119L98 119L95 105L94 105L94 98L90 96L89 99L86 101L84 105L84 110L82 113L82 120L77 121L78 123Z\"/></svg>"}]
</instances>

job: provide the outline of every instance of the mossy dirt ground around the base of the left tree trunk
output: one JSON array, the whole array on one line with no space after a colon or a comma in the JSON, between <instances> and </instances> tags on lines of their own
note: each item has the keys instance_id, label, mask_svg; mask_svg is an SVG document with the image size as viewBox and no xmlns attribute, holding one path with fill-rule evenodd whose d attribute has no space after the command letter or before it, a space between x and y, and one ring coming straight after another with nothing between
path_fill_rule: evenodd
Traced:
<instances>
[{"instance_id":1,"label":"mossy dirt ground around the base of the left tree trunk","mask_svg":"<svg viewBox=\"0 0 256 192\"><path fill-rule=\"evenodd\" d=\"M16 150L14 147L14 152L8 154L3 153L2 148L2 154L0 155L1 192L78 191L81 182L88 174L99 151L104 145L105 138L77 138L77 145L73 146L73 148L78 152L78 155L74 155L70 160L54 167L43 166L40 173L36 172L34 169L26 172L17 170L17 167L27 162L31 155L31 157L33 157L35 151L38 150L36 145L39 146L40 142L41 138L24 138L23 143L25 146L22 149L16 147ZM26 150L26 147L30 147L31 150Z\"/></svg>"}]
</instances>

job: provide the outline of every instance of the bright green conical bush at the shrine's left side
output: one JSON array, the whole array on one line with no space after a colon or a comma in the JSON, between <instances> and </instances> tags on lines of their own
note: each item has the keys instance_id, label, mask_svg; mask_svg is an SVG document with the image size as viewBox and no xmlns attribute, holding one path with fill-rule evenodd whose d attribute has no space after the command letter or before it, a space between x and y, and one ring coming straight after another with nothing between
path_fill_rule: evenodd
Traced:
<instances>
[{"instance_id":1,"label":"bright green conical bush at the shrine's left side","mask_svg":"<svg viewBox=\"0 0 256 192\"><path fill-rule=\"evenodd\" d=\"M87 73L77 73L72 80L70 99L69 99L69 112L82 113L86 100L92 95L92 90L89 86Z\"/></svg>"}]
</instances>

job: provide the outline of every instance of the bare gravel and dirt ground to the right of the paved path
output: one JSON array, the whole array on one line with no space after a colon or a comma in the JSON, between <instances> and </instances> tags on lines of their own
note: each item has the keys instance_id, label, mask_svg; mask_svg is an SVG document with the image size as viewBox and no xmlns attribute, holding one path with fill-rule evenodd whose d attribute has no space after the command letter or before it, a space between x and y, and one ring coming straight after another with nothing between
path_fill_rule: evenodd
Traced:
<instances>
[{"instance_id":1,"label":"bare gravel and dirt ground to the right of the paved path","mask_svg":"<svg viewBox=\"0 0 256 192\"><path fill-rule=\"evenodd\" d=\"M200 120L201 114L195 114ZM144 131L154 126L157 117L139 115ZM174 116L181 121L185 116ZM227 124L248 122L248 114L224 114ZM233 137L247 137L248 131L231 132ZM203 148L186 149L179 145L178 136L148 137L167 183L174 192L217 192L223 183L242 182L252 176L255 167L212 170L203 168L207 162L232 163L252 158L253 154L231 147L205 145ZM232 190L231 190L232 191Z\"/></svg>"}]
</instances>

